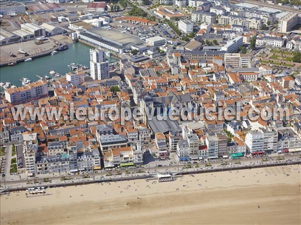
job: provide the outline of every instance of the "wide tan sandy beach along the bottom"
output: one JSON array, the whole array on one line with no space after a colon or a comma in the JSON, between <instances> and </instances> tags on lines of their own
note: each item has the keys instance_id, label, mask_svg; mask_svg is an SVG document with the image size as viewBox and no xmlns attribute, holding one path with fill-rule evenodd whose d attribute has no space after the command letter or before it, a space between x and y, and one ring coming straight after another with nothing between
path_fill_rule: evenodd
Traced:
<instances>
[{"instance_id":1,"label":"wide tan sandy beach along the bottom","mask_svg":"<svg viewBox=\"0 0 301 225\"><path fill-rule=\"evenodd\" d=\"M289 174L289 175L288 175ZM1 224L300 224L300 165L2 195Z\"/></svg>"}]
</instances>

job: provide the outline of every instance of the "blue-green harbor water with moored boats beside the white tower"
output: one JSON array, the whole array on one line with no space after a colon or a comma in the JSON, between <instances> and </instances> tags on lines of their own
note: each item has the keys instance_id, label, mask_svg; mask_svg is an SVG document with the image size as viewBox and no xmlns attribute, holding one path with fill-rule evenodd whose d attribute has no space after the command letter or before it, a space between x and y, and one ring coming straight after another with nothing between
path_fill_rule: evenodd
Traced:
<instances>
[{"instance_id":1,"label":"blue-green harbor water with moored boats beside the white tower","mask_svg":"<svg viewBox=\"0 0 301 225\"><path fill-rule=\"evenodd\" d=\"M22 62L16 66L6 66L0 68L0 81L11 82L12 85L22 86L21 78L25 77L31 81L37 81L36 75L44 77L49 75L49 71L55 70L57 73L65 75L70 72L67 65L78 63L90 66L90 47L81 43L69 44L69 49L58 52L55 55L48 55L34 59L31 62ZM117 61L114 58L107 58L109 62ZM1 88L3 91L3 88Z\"/></svg>"}]
</instances>

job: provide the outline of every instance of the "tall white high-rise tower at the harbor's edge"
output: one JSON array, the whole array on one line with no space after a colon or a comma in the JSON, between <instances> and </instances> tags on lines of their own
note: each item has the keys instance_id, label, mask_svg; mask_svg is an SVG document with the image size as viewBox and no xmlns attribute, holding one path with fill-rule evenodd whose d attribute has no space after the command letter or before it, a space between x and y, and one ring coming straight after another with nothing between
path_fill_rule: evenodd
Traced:
<instances>
[{"instance_id":1,"label":"tall white high-rise tower at the harbor's edge","mask_svg":"<svg viewBox=\"0 0 301 225\"><path fill-rule=\"evenodd\" d=\"M93 80L110 78L109 63L105 60L103 50L90 49L90 74Z\"/></svg>"}]
</instances>

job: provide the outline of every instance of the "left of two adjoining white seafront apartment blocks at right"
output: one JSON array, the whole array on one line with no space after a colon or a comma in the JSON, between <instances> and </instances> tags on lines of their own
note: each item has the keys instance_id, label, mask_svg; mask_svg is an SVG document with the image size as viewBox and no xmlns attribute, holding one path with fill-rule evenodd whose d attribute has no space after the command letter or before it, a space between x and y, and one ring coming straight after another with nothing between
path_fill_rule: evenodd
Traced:
<instances>
[{"instance_id":1,"label":"left of two adjoining white seafront apartment blocks at right","mask_svg":"<svg viewBox=\"0 0 301 225\"><path fill-rule=\"evenodd\" d=\"M260 131L251 131L246 134L245 144L251 153L263 151L264 135Z\"/></svg>"}]
</instances>

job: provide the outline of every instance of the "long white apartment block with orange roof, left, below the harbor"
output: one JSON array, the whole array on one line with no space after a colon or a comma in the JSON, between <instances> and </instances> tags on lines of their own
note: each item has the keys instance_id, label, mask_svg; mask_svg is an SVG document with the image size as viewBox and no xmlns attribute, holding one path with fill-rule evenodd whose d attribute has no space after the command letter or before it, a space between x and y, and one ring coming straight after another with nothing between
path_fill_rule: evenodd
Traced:
<instances>
[{"instance_id":1,"label":"long white apartment block with orange roof, left, below the harbor","mask_svg":"<svg viewBox=\"0 0 301 225\"><path fill-rule=\"evenodd\" d=\"M48 96L46 80L39 80L23 87L5 89L5 98L13 105L27 103Z\"/></svg>"}]
</instances>

